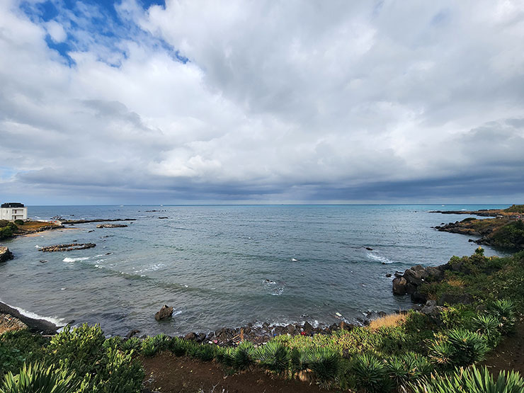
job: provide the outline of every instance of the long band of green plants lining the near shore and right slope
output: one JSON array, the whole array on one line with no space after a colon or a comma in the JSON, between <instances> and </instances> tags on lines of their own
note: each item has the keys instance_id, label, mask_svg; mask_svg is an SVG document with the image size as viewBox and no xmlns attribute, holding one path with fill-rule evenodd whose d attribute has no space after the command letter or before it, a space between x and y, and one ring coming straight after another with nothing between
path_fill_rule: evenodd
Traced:
<instances>
[{"instance_id":1,"label":"long band of green plants lining the near shore and right slope","mask_svg":"<svg viewBox=\"0 0 524 393\"><path fill-rule=\"evenodd\" d=\"M278 336L258 347L244 341L224 348L164 334L106 339L99 326L86 325L67 327L51 340L28 331L7 333L0 336L0 389L29 392L25 385L44 381L56 385L56 392L139 392L143 371L137 356L170 351L215 360L229 372L258 368L341 390L523 392L518 374L494 380L474 364L511 334L524 310L524 251L497 258L478 249L452 257L447 268L443 280L419 290L430 300L467 295L469 304L440 307L431 316L414 311L387 316L329 335Z\"/></svg>"}]
</instances>

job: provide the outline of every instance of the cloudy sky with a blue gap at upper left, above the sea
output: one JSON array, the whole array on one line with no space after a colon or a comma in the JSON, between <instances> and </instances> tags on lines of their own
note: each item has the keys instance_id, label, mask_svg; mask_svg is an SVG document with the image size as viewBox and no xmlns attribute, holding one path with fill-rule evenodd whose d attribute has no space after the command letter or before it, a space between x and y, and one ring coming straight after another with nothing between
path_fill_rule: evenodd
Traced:
<instances>
[{"instance_id":1,"label":"cloudy sky with a blue gap at upper left, above the sea","mask_svg":"<svg viewBox=\"0 0 524 393\"><path fill-rule=\"evenodd\" d=\"M0 0L0 54L0 202L524 203L520 0Z\"/></svg>"}]
</instances>

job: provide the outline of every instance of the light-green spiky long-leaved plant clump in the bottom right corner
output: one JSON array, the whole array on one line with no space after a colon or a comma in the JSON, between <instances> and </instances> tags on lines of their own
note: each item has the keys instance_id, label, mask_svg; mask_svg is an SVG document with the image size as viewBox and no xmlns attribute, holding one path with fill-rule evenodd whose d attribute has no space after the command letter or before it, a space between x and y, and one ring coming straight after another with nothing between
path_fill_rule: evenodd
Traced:
<instances>
[{"instance_id":1,"label":"light-green spiky long-leaved plant clump in the bottom right corner","mask_svg":"<svg viewBox=\"0 0 524 393\"><path fill-rule=\"evenodd\" d=\"M414 393L523 393L524 380L515 371L501 371L495 380L484 368L457 368L450 375L431 375L411 384Z\"/></svg>"}]
</instances>

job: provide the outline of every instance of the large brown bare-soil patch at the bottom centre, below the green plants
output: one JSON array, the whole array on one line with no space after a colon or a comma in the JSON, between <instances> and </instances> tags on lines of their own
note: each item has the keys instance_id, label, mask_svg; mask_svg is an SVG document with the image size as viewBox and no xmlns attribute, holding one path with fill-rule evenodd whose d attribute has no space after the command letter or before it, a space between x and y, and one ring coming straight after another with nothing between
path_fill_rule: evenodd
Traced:
<instances>
[{"instance_id":1,"label":"large brown bare-soil patch at the bottom centre, below the green plants","mask_svg":"<svg viewBox=\"0 0 524 393\"><path fill-rule=\"evenodd\" d=\"M229 375L219 364L177 358L169 352L142 358L144 387L164 393L318 393L330 392L299 380L273 377L261 370Z\"/></svg>"}]
</instances>

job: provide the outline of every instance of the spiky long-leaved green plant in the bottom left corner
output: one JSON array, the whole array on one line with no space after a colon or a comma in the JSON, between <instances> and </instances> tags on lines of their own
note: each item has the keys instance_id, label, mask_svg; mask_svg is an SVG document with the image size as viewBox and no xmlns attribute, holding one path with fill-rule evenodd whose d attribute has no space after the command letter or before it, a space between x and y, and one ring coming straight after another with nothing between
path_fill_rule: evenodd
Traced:
<instances>
[{"instance_id":1,"label":"spiky long-leaved green plant in the bottom left corner","mask_svg":"<svg viewBox=\"0 0 524 393\"><path fill-rule=\"evenodd\" d=\"M71 393L76 389L74 372L45 368L42 363L23 364L18 375L8 372L0 385L0 393Z\"/></svg>"}]
</instances>

